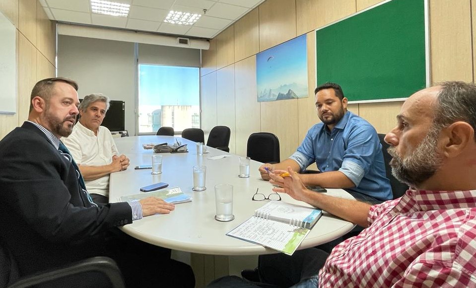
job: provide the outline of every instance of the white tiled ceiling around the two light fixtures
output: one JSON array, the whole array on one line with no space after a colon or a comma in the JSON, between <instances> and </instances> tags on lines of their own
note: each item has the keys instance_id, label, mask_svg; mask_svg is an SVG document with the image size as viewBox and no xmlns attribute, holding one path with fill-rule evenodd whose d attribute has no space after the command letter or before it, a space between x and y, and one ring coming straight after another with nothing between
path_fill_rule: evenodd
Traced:
<instances>
[{"instance_id":1,"label":"white tiled ceiling around the two light fixtures","mask_svg":"<svg viewBox=\"0 0 476 288\"><path fill-rule=\"evenodd\" d=\"M112 0L131 5L127 17L91 12L90 0L40 0L51 20L93 26L213 38L264 0ZM204 12L204 9L206 11ZM202 14L191 26L165 23L170 10Z\"/></svg>"}]
</instances>

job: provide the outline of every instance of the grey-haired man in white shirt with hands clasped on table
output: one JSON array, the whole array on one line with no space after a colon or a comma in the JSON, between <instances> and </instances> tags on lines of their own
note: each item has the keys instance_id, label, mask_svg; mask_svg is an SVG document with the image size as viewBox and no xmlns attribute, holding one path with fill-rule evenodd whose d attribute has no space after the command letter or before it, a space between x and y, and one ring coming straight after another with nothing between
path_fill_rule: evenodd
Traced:
<instances>
[{"instance_id":1,"label":"grey-haired man in white shirt with hands clasped on table","mask_svg":"<svg viewBox=\"0 0 476 288\"><path fill-rule=\"evenodd\" d=\"M129 158L119 156L111 132L101 126L109 109L109 97L91 94L79 105L79 122L63 143L79 166L95 203L109 202L109 174L126 170Z\"/></svg>"}]
</instances>

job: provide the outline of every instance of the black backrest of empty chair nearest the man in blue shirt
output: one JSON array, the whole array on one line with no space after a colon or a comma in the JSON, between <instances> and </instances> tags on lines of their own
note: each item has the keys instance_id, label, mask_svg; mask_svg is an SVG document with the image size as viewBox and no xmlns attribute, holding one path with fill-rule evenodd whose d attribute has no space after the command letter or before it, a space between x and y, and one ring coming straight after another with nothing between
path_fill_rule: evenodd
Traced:
<instances>
[{"instance_id":1,"label":"black backrest of empty chair nearest the man in blue shirt","mask_svg":"<svg viewBox=\"0 0 476 288\"><path fill-rule=\"evenodd\" d=\"M278 163L279 139L268 132L253 133L248 138L246 156L263 163Z\"/></svg>"}]
</instances>

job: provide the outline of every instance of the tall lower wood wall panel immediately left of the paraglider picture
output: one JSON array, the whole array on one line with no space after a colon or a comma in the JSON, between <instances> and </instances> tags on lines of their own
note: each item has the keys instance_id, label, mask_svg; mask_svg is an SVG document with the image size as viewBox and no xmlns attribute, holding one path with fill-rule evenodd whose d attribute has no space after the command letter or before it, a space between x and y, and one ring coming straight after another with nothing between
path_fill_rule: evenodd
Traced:
<instances>
[{"instance_id":1,"label":"tall lower wood wall panel immediately left of the paraglider picture","mask_svg":"<svg viewBox=\"0 0 476 288\"><path fill-rule=\"evenodd\" d=\"M257 100L256 56L235 64L236 154L246 156L248 137L261 132L261 106Z\"/></svg>"}]
</instances>

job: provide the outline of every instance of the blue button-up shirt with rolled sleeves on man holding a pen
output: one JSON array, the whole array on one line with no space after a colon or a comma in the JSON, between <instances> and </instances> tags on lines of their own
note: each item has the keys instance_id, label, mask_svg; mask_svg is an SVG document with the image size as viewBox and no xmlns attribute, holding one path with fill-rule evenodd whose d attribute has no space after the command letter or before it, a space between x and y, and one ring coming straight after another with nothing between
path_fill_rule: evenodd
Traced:
<instances>
[{"instance_id":1,"label":"blue button-up shirt with rolled sleeves on man holding a pen","mask_svg":"<svg viewBox=\"0 0 476 288\"><path fill-rule=\"evenodd\" d=\"M299 164L301 171L316 162L321 172L342 172L355 184L355 187L345 189L351 194L357 192L382 201L392 199L377 132L350 111L332 132L324 123L311 127L289 158Z\"/></svg>"}]
</instances>

